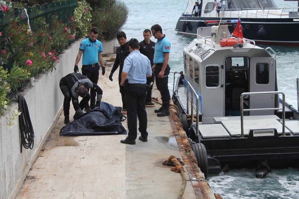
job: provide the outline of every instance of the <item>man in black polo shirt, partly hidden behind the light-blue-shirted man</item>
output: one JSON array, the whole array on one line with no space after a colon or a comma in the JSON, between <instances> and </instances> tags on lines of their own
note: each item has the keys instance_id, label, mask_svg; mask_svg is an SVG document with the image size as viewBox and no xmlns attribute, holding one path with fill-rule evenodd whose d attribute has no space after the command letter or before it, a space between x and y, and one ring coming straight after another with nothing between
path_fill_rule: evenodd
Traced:
<instances>
[{"instance_id":1,"label":"man in black polo shirt, partly hidden behind the light-blue-shirted man","mask_svg":"<svg viewBox=\"0 0 299 199\"><path fill-rule=\"evenodd\" d=\"M152 37L152 32L149 29L143 31L143 37L144 40L139 43L139 51L141 54L147 56L147 58L150 61L150 65L152 67L154 65L154 53L155 53L156 43L150 40L150 38ZM147 85L149 85L151 82L154 83L154 81L155 81L155 75L152 75L151 77L147 77ZM155 103L152 102L152 87L153 85L147 91L145 106L155 105Z\"/></svg>"}]
</instances>

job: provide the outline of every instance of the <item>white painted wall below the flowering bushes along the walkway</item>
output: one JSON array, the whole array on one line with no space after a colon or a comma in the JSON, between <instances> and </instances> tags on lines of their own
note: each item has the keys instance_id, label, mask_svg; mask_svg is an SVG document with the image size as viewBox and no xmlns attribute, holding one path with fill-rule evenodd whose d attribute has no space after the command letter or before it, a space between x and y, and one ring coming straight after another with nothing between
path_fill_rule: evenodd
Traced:
<instances>
[{"instance_id":1,"label":"white painted wall below the flowering bushes along the walkway","mask_svg":"<svg viewBox=\"0 0 299 199\"><path fill-rule=\"evenodd\" d=\"M81 40L80 40L81 41ZM22 94L28 104L34 129L33 150L24 149L20 153L19 122L9 129L6 120L0 120L0 198L15 198L36 156L39 154L48 134L56 123L63 104L59 88L60 79L74 72L75 59L80 41L74 42L65 50L56 65L56 70L35 78L35 85L28 85ZM81 62L79 63L80 65ZM79 67L81 70L81 67ZM13 107L18 108L17 100ZM7 114L7 117L10 115Z\"/></svg>"}]
</instances>

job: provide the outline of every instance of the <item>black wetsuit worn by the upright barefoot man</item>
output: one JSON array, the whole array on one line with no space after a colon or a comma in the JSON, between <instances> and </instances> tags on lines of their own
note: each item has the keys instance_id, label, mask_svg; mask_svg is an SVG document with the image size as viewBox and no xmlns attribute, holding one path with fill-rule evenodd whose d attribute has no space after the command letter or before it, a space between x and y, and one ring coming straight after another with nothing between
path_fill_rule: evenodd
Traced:
<instances>
[{"instance_id":1,"label":"black wetsuit worn by the upright barefoot man","mask_svg":"<svg viewBox=\"0 0 299 199\"><path fill-rule=\"evenodd\" d=\"M123 111L127 110L126 102L125 102L125 89L123 86L120 85L121 81L121 72L123 71L123 62L125 61L126 57L130 54L129 51L129 43L119 46L116 49L116 59L114 65L111 69L111 73L113 74L119 66L119 73L118 73L118 85L119 85L119 92L121 94L121 100L123 102Z\"/></svg>"}]
</instances>

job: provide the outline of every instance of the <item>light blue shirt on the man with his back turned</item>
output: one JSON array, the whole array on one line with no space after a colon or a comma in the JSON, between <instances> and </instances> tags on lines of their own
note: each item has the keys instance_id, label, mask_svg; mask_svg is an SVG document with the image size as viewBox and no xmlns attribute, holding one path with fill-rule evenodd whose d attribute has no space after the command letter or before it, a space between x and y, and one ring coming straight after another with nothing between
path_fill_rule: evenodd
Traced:
<instances>
[{"instance_id":1,"label":"light blue shirt on the man with his back turned","mask_svg":"<svg viewBox=\"0 0 299 199\"><path fill-rule=\"evenodd\" d=\"M146 84L146 75L152 74L152 68L149 59L139 50L134 50L123 62L123 72L128 73L129 84Z\"/></svg>"}]
</instances>

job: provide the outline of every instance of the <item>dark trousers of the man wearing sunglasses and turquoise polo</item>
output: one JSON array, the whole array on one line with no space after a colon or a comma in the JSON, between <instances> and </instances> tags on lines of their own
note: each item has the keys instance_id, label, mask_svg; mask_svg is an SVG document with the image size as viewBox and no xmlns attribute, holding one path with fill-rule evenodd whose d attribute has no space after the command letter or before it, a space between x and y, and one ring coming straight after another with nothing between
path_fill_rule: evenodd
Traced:
<instances>
[{"instance_id":1,"label":"dark trousers of the man wearing sunglasses and turquoise polo","mask_svg":"<svg viewBox=\"0 0 299 199\"><path fill-rule=\"evenodd\" d=\"M157 89L160 91L160 94L161 94L163 108L169 110L170 93L169 93L169 90L168 90L168 75L169 75L169 72L170 72L170 67L167 64L167 67L164 71L163 78L158 77L161 69L162 69L162 65L161 64L156 64L156 67L155 67L156 86L157 86Z\"/></svg>"}]
</instances>

